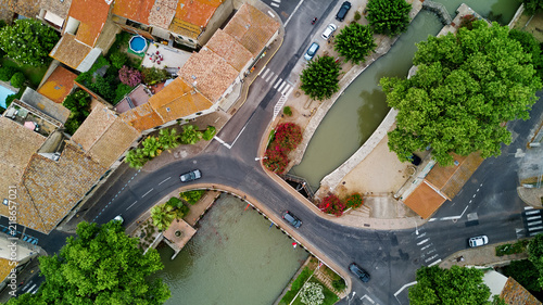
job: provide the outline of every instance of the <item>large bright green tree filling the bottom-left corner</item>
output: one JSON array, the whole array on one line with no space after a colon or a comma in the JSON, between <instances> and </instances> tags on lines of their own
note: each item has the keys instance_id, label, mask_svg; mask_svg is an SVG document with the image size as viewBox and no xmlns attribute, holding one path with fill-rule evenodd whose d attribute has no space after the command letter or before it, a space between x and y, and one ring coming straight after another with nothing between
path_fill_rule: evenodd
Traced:
<instances>
[{"instance_id":1,"label":"large bright green tree filling the bottom-left corner","mask_svg":"<svg viewBox=\"0 0 543 305\"><path fill-rule=\"evenodd\" d=\"M162 279L149 276L164 268L155 249L146 254L118 221L101 227L80 223L59 254L42 256L46 281L35 295L8 304L163 304L171 293Z\"/></svg>"}]
</instances>

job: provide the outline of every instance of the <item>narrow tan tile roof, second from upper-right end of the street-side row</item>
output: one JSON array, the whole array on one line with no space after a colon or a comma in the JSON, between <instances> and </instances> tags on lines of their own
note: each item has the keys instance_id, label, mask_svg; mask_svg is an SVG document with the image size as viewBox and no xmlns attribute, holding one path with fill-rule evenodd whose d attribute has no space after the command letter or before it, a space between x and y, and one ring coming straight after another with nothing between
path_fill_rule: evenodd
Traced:
<instances>
[{"instance_id":1,"label":"narrow tan tile roof, second from upper-right end of the street-side row","mask_svg":"<svg viewBox=\"0 0 543 305\"><path fill-rule=\"evenodd\" d=\"M225 59L238 72L241 72L253 59L253 54L245 47L241 46L238 40L222 29L215 31L210 41L205 43L205 47Z\"/></svg>"}]
</instances>

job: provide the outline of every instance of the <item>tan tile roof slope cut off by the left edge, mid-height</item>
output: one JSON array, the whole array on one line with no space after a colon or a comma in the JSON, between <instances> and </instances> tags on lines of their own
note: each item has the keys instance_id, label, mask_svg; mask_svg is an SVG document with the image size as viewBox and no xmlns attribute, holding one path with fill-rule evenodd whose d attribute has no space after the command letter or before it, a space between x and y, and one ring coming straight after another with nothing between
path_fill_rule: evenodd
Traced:
<instances>
[{"instance_id":1,"label":"tan tile roof slope cut off by the left edge, mid-height","mask_svg":"<svg viewBox=\"0 0 543 305\"><path fill-rule=\"evenodd\" d=\"M2 139L0 145L0 200L3 200L9 198L9 187L16 186L21 181L30 157L43 144L46 137L1 116L0 139ZM4 205L0 204L0 206Z\"/></svg>"}]
</instances>

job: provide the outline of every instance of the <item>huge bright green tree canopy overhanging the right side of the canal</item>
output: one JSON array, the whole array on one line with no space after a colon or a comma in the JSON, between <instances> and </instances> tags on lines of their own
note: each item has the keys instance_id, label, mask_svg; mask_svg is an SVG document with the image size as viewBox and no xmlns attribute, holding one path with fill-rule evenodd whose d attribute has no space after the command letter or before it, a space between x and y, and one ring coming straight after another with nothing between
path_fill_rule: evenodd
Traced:
<instances>
[{"instance_id":1,"label":"huge bright green tree canopy overhanging the right side of the canal","mask_svg":"<svg viewBox=\"0 0 543 305\"><path fill-rule=\"evenodd\" d=\"M431 145L433 158L447 165L450 152L489 157L510 143L503 123L529 118L541 79L508 33L478 21L472 30L429 37L417 45L412 78L381 79L387 102L399 111L389 148L401 161Z\"/></svg>"}]
</instances>

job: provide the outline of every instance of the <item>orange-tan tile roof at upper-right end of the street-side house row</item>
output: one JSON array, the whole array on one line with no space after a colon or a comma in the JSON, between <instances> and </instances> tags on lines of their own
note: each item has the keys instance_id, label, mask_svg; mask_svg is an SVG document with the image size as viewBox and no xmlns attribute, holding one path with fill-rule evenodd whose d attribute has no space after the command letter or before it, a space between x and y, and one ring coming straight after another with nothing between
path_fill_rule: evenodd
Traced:
<instances>
[{"instance_id":1,"label":"orange-tan tile roof at upper-right end of the street-side house row","mask_svg":"<svg viewBox=\"0 0 543 305\"><path fill-rule=\"evenodd\" d=\"M278 29L278 22L245 3L228 22L224 30L253 53L253 56L256 56Z\"/></svg>"}]
</instances>

